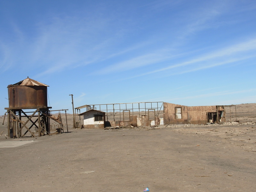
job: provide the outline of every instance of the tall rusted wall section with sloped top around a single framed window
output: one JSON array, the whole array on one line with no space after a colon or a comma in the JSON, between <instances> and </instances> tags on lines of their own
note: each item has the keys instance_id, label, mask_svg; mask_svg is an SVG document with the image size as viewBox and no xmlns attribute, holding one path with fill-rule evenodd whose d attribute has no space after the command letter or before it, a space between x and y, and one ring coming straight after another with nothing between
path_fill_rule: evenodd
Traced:
<instances>
[{"instance_id":1,"label":"tall rusted wall section with sloped top around a single framed window","mask_svg":"<svg viewBox=\"0 0 256 192\"><path fill-rule=\"evenodd\" d=\"M181 107L181 119L176 119L175 107ZM164 124L188 124L188 107L164 102Z\"/></svg>"}]
</instances>

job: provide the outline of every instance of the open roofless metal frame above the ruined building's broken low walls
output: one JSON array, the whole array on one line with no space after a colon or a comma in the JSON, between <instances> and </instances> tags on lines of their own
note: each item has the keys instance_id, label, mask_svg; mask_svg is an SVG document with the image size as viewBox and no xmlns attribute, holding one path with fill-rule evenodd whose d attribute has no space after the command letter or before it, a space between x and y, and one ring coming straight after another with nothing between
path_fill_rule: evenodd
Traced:
<instances>
[{"instance_id":1,"label":"open roofless metal frame above the ruined building's broken low walls","mask_svg":"<svg viewBox=\"0 0 256 192\"><path fill-rule=\"evenodd\" d=\"M86 111L90 109L96 109L106 113L106 121L113 117L114 121L123 121L124 112L130 110L132 116L148 115L148 110L155 109L157 116L164 114L164 102L139 102L139 103L112 103L112 104L94 104L94 105L83 105L75 108L77 114L80 114L80 109L86 108ZM79 111L79 112L78 112ZM109 114L112 112L111 114ZM116 113L118 112L118 113Z\"/></svg>"}]
</instances>

